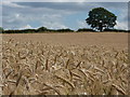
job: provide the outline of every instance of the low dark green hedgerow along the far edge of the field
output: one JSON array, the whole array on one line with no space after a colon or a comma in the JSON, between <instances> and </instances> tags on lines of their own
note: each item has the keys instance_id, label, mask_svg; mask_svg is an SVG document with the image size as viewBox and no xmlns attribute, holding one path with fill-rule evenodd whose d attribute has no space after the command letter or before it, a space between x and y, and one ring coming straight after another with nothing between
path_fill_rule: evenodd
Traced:
<instances>
[{"instance_id":1,"label":"low dark green hedgerow along the far edge of the field","mask_svg":"<svg viewBox=\"0 0 130 97\"><path fill-rule=\"evenodd\" d=\"M98 32L93 29L80 28L77 31L67 29L48 29L46 27L40 27L38 29L23 29L23 30L3 30L0 28L0 33L37 33L37 32ZM130 30L120 30L120 29L104 29L104 31L115 31L115 32L130 32Z\"/></svg>"}]
</instances>

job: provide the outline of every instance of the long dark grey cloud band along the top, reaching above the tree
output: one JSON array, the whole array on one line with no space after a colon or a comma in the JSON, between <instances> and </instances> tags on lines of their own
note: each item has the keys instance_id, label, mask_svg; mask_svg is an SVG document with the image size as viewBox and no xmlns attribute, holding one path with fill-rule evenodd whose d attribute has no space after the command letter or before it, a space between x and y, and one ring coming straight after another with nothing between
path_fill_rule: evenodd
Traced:
<instances>
[{"instance_id":1,"label":"long dark grey cloud band along the top, reaching above the tree","mask_svg":"<svg viewBox=\"0 0 130 97\"><path fill-rule=\"evenodd\" d=\"M104 6L107 9L125 9L127 6L127 2L15 2L18 5L30 6L30 8L47 8L53 10L67 10L67 11L86 11L91 10L92 8Z\"/></svg>"}]
</instances>

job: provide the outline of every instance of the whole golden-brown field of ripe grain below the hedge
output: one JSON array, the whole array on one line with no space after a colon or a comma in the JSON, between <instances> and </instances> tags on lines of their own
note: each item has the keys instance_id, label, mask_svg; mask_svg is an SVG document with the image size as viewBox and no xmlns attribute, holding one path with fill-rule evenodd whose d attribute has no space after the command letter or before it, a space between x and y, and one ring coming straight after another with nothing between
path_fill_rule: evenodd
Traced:
<instances>
[{"instance_id":1,"label":"whole golden-brown field of ripe grain below the hedge","mask_svg":"<svg viewBox=\"0 0 130 97\"><path fill-rule=\"evenodd\" d=\"M128 95L128 33L2 34L3 95Z\"/></svg>"}]
</instances>

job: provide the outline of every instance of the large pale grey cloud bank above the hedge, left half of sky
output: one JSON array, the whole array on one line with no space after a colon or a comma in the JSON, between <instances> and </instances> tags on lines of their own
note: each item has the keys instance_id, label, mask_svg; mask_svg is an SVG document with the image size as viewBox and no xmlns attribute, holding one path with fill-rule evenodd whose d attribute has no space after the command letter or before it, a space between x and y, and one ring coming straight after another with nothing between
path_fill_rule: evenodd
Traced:
<instances>
[{"instance_id":1,"label":"large pale grey cloud bank above the hedge, left half of sky","mask_svg":"<svg viewBox=\"0 0 130 97\"><path fill-rule=\"evenodd\" d=\"M68 28L63 24L64 14L54 11L44 11L44 9L12 9L11 13L6 13L9 8L4 8L3 27L6 29L37 28L44 26L48 28L58 29ZM9 10L10 11L10 10ZM28 25L27 25L28 24ZM31 27L29 26L31 25Z\"/></svg>"}]
</instances>

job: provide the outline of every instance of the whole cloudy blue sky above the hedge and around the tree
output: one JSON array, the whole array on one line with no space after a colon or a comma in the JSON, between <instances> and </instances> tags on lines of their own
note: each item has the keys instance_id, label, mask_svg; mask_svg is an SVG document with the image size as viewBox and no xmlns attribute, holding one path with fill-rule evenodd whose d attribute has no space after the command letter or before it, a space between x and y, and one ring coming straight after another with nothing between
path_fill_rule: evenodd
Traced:
<instances>
[{"instance_id":1,"label":"whole cloudy blue sky above the hedge and around the tree","mask_svg":"<svg viewBox=\"0 0 130 97\"><path fill-rule=\"evenodd\" d=\"M88 13L93 8L100 6L117 16L115 28L128 29L128 2L116 2L116 0L115 2L5 0L2 2L2 14L0 14L2 24L0 26L4 29L30 29L42 26L50 29L90 28L86 23Z\"/></svg>"}]
</instances>

